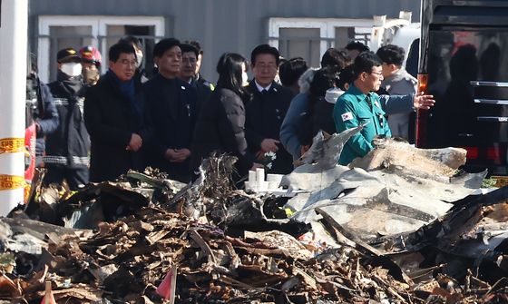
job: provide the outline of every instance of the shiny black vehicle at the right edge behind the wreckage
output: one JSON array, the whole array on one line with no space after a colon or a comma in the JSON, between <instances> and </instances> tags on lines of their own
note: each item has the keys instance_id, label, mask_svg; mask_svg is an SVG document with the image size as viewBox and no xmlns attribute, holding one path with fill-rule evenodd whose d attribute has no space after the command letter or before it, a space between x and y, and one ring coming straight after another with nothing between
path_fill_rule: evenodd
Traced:
<instances>
[{"instance_id":1,"label":"shiny black vehicle at the right edge behind the wreckage","mask_svg":"<svg viewBox=\"0 0 508 304\"><path fill-rule=\"evenodd\" d=\"M465 170L508 175L508 1L422 0L418 73L436 103L416 145L462 147Z\"/></svg>"}]
</instances>

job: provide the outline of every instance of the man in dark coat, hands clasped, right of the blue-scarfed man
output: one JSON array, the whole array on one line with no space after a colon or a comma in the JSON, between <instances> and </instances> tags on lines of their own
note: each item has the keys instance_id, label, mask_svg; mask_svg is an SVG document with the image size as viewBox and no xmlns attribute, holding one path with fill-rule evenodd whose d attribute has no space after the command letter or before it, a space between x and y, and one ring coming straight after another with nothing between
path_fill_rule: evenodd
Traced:
<instances>
[{"instance_id":1,"label":"man in dark coat, hands clasped, right of the blue-scarfed man","mask_svg":"<svg viewBox=\"0 0 508 304\"><path fill-rule=\"evenodd\" d=\"M177 39L162 39L153 48L159 74L143 84L153 123L151 165L172 180L189 182L190 143L198 115L196 91L178 78L181 48Z\"/></svg>"}]
</instances>

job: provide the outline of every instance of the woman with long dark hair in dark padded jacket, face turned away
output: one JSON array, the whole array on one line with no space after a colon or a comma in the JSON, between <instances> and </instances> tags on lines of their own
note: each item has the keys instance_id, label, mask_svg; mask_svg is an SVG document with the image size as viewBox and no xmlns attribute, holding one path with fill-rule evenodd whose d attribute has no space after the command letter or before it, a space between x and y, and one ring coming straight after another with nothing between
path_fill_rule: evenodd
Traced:
<instances>
[{"instance_id":1,"label":"woman with long dark hair in dark padded jacket, face turned away","mask_svg":"<svg viewBox=\"0 0 508 304\"><path fill-rule=\"evenodd\" d=\"M249 93L242 84L247 83L247 62L239 54L226 53L217 64L219 81L208 103L203 103L193 137L191 165L198 172L200 163L211 153L228 153L236 156L235 181L259 167L254 162L245 140L245 106Z\"/></svg>"}]
</instances>

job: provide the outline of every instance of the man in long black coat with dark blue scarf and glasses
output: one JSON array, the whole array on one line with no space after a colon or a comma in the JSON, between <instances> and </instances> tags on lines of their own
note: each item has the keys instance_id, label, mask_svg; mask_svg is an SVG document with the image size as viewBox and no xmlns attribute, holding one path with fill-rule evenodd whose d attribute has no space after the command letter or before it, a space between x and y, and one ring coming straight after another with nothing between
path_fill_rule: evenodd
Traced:
<instances>
[{"instance_id":1,"label":"man in long black coat with dark blue scarf and glasses","mask_svg":"<svg viewBox=\"0 0 508 304\"><path fill-rule=\"evenodd\" d=\"M131 44L114 44L109 71L86 93L84 122L92 141L90 180L112 181L145 166L151 139L150 118L141 84L133 77L136 54Z\"/></svg>"}]
</instances>

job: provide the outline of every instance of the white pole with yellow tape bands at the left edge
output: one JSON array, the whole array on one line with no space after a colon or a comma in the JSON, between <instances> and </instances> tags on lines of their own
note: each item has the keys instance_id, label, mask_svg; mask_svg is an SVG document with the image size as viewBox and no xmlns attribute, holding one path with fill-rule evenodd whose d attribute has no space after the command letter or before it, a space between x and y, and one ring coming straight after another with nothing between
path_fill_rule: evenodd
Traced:
<instances>
[{"instance_id":1,"label":"white pole with yellow tape bands at the left edge","mask_svg":"<svg viewBox=\"0 0 508 304\"><path fill-rule=\"evenodd\" d=\"M28 0L0 1L0 215L24 194Z\"/></svg>"}]
</instances>

